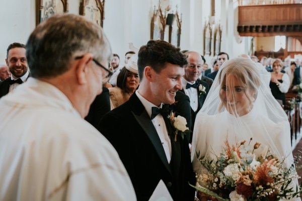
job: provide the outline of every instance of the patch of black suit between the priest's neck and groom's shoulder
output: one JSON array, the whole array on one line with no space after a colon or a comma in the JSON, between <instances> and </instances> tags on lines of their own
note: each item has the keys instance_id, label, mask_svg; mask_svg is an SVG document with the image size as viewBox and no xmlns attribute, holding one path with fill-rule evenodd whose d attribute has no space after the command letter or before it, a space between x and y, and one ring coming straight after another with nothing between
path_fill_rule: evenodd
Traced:
<instances>
[{"instance_id":1,"label":"patch of black suit between the priest's neck and groom's shoulder","mask_svg":"<svg viewBox=\"0 0 302 201\"><path fill-rule=\"evenodd\" d=\"M106 87L103 87L103 92L100 95L97 95L91 104L85 120L97 128L102 117L109 112L110 109L109 90Z\"/></svg>"}]
</instances>

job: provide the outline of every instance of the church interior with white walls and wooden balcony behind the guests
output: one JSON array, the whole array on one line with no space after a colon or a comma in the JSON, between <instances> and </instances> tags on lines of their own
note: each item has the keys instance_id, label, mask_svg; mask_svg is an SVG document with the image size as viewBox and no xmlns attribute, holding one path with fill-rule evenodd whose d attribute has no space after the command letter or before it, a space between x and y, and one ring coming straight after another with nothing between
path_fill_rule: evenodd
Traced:
<instances>
[{"instance_id":1,"label":"church interior with white walls and wooden balcony behind the guests","mask_svg":"<svg viewBox=\"0 0 302 201\"><path fill-rule=\"evenodd\" d=\"M209 68L219 52L254 56L259 63L278 58L283 70L291 62L302 68L301 0L2 0L0 63L9 44L26 44L39 23L60 13L82 15L101 26L121 66L127 51L165 40L203 55ZM302 150L302 87L294 88L291 80L285 98L280 104L295 156Z\"/></svg>"}]
</instances>

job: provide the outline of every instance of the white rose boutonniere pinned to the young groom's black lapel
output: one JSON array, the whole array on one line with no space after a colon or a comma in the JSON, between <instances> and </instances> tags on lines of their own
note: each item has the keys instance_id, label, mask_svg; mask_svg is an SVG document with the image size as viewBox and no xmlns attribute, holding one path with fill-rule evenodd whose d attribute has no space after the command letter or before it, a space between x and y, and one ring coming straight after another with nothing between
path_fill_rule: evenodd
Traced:
<instances>
[{"instance_id":1,"label":"white rose boutonniere pinned to the young groom's black lapel","mask_svg":"<svg viewBox=\"0 0 302 201\"><path fill-rule=\"evenodd\" d=\"M188 127L187 127L187 120L183 116L175 116L174 112L171 112L169 115L169 119L171 121L171 124L174 129L174 141L176 142L177 135L180 134L182 139L184 139L184 135L186 133L192 132Z\"/></svg>"}]
</instances>

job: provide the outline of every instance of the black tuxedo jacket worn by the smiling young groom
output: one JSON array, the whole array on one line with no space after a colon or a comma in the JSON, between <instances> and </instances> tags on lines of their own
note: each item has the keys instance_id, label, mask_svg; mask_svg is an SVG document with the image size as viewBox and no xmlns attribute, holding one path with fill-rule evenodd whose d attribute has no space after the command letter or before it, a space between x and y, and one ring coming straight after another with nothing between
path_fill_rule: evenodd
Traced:
<instances>
[{"instance_id":1,"label":"black tuxedo jacket worn by the smiling young groom","mask_svg":"<svg viewBox=\"0 0 302 201\"><path fill-rule=\"evenodd\" d=\"M108 112L99 124L100 132L116 149L132 181L137 200L148 200L162 179L174 200L194 200L195 174L187 139L171 136L171 162L144 106L134 93Z\"/></svg>"}]
</instances>

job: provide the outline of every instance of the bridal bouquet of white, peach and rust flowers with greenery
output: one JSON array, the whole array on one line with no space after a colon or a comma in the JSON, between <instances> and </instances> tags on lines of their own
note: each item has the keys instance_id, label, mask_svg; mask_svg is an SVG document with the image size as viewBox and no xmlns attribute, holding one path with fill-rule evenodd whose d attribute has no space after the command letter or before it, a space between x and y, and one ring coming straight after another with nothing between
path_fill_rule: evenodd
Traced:
<instances>
[{"instance_id":1,"label":"bridal bouquet of white, peach and rust flowers with greenery","mask_svg":"<svg viewBox=\"0 0 302 201\"><path fill-rule=\"evenodd\" d=\"M266 147L256 154L260 143L248 145L246 141L231 146L225 141L223 152L216 160L197 157L204 171L197 175L197 190L219 200L280 200L298 197L298 187L289 183L298 177L294 165L283 167L283 161L269 155Z\"/></svg>"}]
</instances>

